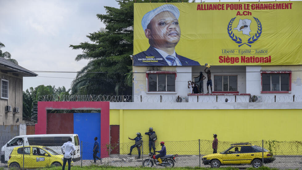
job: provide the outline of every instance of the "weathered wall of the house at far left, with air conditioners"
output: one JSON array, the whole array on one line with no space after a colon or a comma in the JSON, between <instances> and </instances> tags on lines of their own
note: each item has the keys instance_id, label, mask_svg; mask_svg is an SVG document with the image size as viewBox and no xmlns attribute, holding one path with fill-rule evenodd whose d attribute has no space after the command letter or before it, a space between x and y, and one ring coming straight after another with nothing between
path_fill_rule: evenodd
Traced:
<instances>
[{"instance_id":1,"label":"weathered wall of the house at far left, with air conditioners","mask_svg":"<svg viewBox=\"0 0 302 170\"><path fill-rule=\"evenodd\" d=\"M3 72L0 72L0 78L9 81L8 100L0 99L0 125L19 125L22 122L23 79L21 76ZM11 112L5 112L6 105L11 106ZM19 113L13 114L14 107L19 107ZM17 118L19 118L19 122L16 123Z\"/></svg>"}]
</instances>

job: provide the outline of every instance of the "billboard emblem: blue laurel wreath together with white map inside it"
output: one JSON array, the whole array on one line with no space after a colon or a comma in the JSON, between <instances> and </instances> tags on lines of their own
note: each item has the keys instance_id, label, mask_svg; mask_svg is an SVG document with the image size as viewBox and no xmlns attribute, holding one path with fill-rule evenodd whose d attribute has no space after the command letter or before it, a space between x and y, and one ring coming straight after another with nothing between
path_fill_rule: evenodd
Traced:
<instances>
[{"instance_id":1,"label":"billboard emblem: blue laurel wreath together with white map inside it","mask_svg":"<svg viewBox=\"0 0 302 170\"><path fill-rule=\"evenodd\" d=\"M227 25L227 33L229 35L229 37L238 45L238 47L242 46L243 44L246 44L247 46L251 47L251 45L249 44L253 44L255 43L261 36L262 34L262 25L261 25L261 22L259 21L258 18L255 18L253 17L254 20L256 21L257 23L257 32L255 33L255 35L253 35L252 37L250 37L249 39L247 39L246 42L243 42L243 40L240 38L240 37L237 37L234 32L233 32L233 29L232 29L232 25L233 25L233 22L235 21L236 17L232 18L229 22L229 24ZM238 30L239 32L242 31L243 34L245 35L248 35L248 36L251 36L250 35L250 32L251 32L251 29L250 29L250 25L251 25L251 20L249 19L240 19L239 20L239 24L237 25L236 28L234 28L234 30Z\"/></svg>"}]
</instances>

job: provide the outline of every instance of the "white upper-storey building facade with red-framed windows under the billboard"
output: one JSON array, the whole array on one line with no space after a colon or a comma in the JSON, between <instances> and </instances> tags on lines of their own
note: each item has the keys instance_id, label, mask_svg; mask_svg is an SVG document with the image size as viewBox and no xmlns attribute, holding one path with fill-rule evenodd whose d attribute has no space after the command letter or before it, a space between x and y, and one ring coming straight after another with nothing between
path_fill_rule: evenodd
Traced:
<instances>
[{"instance_id":1,"label":"white upper-storey building facade with red-framed windows under the billboard","mask_svg":"<svg viewBox=\"0 0 302 170\"><path fill-rule=\"evenodd\" d=\"M192 94L188 81L198 81L204 66L133 66L134 102L294 102L302 101L301 65L211 66L203 93ZM180 99L179 99L180 98Z\"/></svg>"}]
</instances>

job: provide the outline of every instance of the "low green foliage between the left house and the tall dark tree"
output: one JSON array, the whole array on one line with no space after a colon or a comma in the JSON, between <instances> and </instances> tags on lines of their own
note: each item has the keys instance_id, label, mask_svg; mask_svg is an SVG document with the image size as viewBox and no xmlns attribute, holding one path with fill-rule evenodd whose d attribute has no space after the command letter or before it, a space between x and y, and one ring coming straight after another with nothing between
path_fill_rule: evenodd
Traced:
<instances>
[{"instance_id":1,"label":"low green foliage between the left house and the tall dark tree","mask_svg":"<svg viewBox=\"0 0 302 170\"><path fill-rule=\"evenodd\" d=\"M71 89L66 90L64 86L56 89L55 86L51 85L39 85L35 88L31 87L29 89L26 89L25 91L23 91L23 118L30 120L33 102L39 101L39 96L51 98L51 95L55 94L61 98L62 95L69 95L70 90ZM56 101L59 101L58 97L56 98Z\"/></svg>"}]
</instances>

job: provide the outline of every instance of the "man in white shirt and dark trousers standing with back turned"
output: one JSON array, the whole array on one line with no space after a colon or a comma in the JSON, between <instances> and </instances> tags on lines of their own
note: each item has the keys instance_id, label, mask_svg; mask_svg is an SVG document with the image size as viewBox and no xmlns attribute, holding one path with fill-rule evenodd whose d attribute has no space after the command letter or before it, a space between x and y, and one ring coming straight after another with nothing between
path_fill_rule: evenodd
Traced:
<instances>
[{"instance_id":1,"label":"man in white shirt and dark trousers standing with back turned","mask_svg":"<svg viewBox=\"0 0 302 170\"><path fill-rule=\"evenodd\" d=\"M71 142L72 142L72 139L71 139L71 137L69 137L68 142L64 143L63 146L61 146L61 150L64 155L62 170L65 170L66 162L68 162L68 170L70 170L70 168L71 168L71 157L76 152L76 147Z\"/></svg>"}]
</instances>

